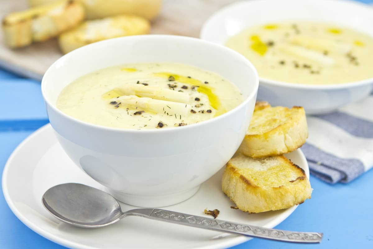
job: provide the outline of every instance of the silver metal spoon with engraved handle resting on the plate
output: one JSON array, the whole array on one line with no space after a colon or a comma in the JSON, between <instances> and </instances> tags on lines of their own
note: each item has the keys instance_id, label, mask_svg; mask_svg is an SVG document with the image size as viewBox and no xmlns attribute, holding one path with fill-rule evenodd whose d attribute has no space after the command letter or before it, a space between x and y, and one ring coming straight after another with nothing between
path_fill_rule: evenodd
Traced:
<instances>
[{"instance_id":1,"label":"silver metal spoon with engraved handle resting on the plate","mask_svg":"<svg viewBox=\"0 0 373 249\"><path fill-rule=\"evenodd\" d=\"M204 228L224 233L299 243L319 243L322 233L301 233L222 221L158 208L139 208L122 212L117 200L101 190L78 183L51 187L44 193L44 207L57 219L77 227L97 228L127 216Z\"/></svg>"}]
</instances>

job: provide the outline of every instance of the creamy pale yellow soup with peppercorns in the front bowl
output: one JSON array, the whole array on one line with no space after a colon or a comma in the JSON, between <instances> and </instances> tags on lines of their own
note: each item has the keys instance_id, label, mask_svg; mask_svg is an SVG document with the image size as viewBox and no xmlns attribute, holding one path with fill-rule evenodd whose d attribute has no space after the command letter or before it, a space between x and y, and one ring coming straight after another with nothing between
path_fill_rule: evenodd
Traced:
<instances>
[{"instance_id":1,"label":"creamy pale yellow soup with peppercorns in the front bowl","mask_svg":"<svg viewBox=\"0 0 373 249\"><path fill-rule=\"evenodd\" d=\"M139 63L78 78L62 90L57 108L92 124L145 130L201 122L242 101L238 88L213 72L172 63Z\"/></svg>"}]
</instances>

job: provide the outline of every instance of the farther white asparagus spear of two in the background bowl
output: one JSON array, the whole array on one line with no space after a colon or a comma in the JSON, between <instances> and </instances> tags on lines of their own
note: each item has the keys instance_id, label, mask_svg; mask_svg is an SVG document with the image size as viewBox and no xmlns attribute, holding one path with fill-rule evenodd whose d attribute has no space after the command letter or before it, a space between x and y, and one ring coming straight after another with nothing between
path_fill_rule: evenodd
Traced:
<instances>
[{"instance_id":1,"label":"farther white asparagus spear of two in the background bowl","mask_svg":"<svg viewBox=\"0 0 373 249\"><path fill-rule=\"evenodd\" d=\"M342 55L351 51L351 44L337 42L329 39L310 37L307 35L297 35L289 39L289 42L294 45L299 45L307 49L316 49L320 51L336 52Z\"/></svg>"}]
</instances>

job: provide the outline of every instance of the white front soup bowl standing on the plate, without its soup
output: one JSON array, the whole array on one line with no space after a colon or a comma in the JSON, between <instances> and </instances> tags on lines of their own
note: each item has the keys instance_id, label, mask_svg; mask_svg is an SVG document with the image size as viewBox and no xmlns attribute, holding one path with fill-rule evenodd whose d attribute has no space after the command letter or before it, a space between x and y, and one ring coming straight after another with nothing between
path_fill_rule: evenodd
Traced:
<instances>
[{"instance_id":1,"label":"white front soup bowl standing on the plate, without its soup","mask_svg":"<svg viewBox=\"0 0 373 249\"><path fill-rule=\"evenodd\" d=\"M61 90L76 78L141 62L182 63L216 72L239 88L244 101L204 122L154 130L89 124L56 108ZM73 162L122 202L156 207L191 197L232 157L253 114L258 75L245 57L223 46L195 38L139 35L68 53L50 66L41 88L50 123Z\"/></svg>"}]
</instances>

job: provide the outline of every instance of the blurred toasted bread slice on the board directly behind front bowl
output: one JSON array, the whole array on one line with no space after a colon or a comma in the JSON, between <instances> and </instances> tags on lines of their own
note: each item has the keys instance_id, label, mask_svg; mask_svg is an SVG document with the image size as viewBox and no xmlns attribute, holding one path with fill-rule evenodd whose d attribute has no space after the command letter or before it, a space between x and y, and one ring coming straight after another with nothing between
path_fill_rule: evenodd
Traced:
<instances>
[{"instance_id":1,"label":"blurred toasted bread slice on the board directly behind front bowl","mask_svg":"<svg viewBox=\"0 0 373 249\"><path fill-rule=\"evenodd\" d=\"M96 41L127 35L148 34L149 31L150 22L147 19L135 15L119 15L85 21L78 27L61 34L59 45L63 53L68 53Z\"/></svg>"}]
</instances>

